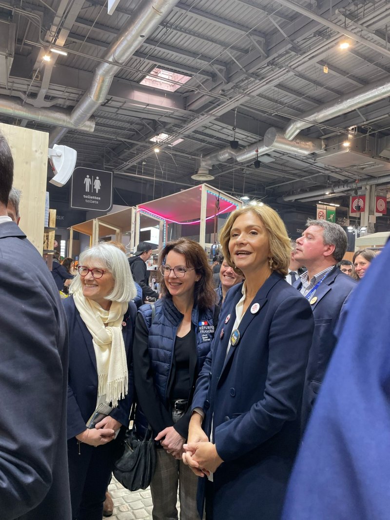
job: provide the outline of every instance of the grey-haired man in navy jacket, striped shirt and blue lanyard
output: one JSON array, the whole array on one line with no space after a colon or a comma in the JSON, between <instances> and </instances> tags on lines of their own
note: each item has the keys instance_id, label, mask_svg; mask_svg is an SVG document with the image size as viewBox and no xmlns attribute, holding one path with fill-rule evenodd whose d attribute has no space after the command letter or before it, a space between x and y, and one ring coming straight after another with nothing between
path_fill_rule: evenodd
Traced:
<instances>
[{"instance_id":1,"label":"grey-haired man in navy jacket, striped shirt and blue lanyard","mask_svg":"<svg viewBox=\"0 0 390 520\"><path fill-rule=\"evenodd\" d=\"M302 428L321 387L336 344L334 329L342 307L356 282L336 266L347 249L347 236L338 224L307 220L302 237L296 240L295 259L307 267L296 287L313 310L315 329L306 368L302 403Z\"/></svg>"}]
</instances>

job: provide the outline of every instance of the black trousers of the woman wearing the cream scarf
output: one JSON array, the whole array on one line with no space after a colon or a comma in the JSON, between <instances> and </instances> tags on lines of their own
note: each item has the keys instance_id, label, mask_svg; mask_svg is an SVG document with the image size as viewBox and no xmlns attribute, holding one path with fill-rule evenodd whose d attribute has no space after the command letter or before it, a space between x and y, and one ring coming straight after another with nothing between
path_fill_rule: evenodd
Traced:
<instances>
[{"instance_id":1,"label":"black trousers of the woman wearing the cream scarf","mask_svg":"<svg viewBox=\"0 0 390 520\"><path fill-rule=\"evenodd\" d=\"M118 443L115 439L97 448L82 444L80 455L77 440L68 440L72 520L101 520L117 452Z\"/></svg>"}]
</instances>

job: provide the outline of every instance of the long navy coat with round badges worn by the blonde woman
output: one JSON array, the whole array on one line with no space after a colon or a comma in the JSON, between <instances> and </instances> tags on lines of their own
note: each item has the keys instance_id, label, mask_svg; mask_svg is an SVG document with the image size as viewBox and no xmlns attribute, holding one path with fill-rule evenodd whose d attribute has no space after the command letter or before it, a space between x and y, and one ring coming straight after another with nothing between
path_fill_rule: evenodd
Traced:
<instances>
[{"instance_id":1,"label":"long navy coat with round badges worn by the blonde woman","mask_svg":"<svg viewBox=\"0 0 390 520\"><path fill-rule=\"evenodd\" d=\"M219 316L212 352L197 381L192 409L225 461L214 474L214 520L277 519L300 436L305 368L314 330L307 300L273 272L239 326L226 356L242 283ZM259 310L251 312L252 305ZM200 479L198 509L203 506Z\"/></svg>"}]
</instances>

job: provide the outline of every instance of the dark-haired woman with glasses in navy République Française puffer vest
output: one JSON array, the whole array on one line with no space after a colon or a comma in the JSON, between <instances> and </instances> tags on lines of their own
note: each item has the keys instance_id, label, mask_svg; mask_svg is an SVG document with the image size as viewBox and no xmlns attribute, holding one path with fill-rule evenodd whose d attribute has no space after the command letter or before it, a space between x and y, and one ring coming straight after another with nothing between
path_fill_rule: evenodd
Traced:
<instances>
[{"instance_id":1,"label":"dark-haired woman with glasses in navy R\u00e9publique Fran\u00e7aise puffer vest","mask_svg":"<svg viewBox=\"0 0 390 520\"><path fill-rule=\"evenodd\" d=\"M214 306L212 271L204 249L181 238L160 255L161 293L155 315L149 304L136 318L133 348L137 394L136 428L148 423L158 442L157 467L150 484L153 520L198 520L197 477L181 461L195 382L210 352L219 309Z\"/></svg>"}]
</instances>

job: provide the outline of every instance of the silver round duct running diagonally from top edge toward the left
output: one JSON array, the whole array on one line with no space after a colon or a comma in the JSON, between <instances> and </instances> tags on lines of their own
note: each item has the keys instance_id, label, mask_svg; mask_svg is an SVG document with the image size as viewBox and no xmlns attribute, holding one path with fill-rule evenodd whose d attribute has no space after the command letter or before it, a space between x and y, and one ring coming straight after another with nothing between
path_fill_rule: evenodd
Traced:
<instances>
[{"instance_id":1,"label":"silver round duct running diagonally from top edge toward the left","mask_svg":"<svg viewBox=\"0 0 390 520\"><path fill-rule=\"evenodd\" d=\"M142 0L140 9L129 19L118 38L109 46L103 59L96 68L89 90L72 110L70 119L81 126L105 102L112 80L121 69L121 64L130 59L143 38L151 35L158 24L166 17L179 0ZM115 63L115 64L114 64ZM49 135L49 146L53 146L67 130L56 128Z\"/></svg>"}]
</instances>

